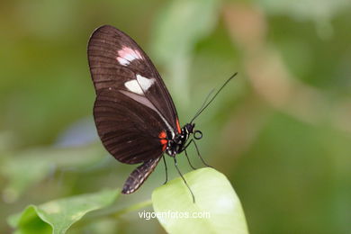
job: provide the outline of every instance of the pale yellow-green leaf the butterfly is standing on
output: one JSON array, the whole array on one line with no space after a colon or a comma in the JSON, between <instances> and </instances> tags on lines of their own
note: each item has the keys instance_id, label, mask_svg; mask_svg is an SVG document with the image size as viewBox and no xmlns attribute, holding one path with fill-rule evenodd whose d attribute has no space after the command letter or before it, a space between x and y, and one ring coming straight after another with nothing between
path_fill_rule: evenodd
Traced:
<instances>
[{"instance_id":1,"label":"pale yellow-green leaf the butterfly is standing on","mask_svg":"<svg viewBox=\"0 0 351 234\"><path fill-rule=\"evenodd\" d=\"M193 191L195 203L180 177L152 194L157 219L168 233L248 233L244 211L225 175L207 167L184 178ZM203 218L182 218L193 214Z\"/></svg>"}]
</instances>

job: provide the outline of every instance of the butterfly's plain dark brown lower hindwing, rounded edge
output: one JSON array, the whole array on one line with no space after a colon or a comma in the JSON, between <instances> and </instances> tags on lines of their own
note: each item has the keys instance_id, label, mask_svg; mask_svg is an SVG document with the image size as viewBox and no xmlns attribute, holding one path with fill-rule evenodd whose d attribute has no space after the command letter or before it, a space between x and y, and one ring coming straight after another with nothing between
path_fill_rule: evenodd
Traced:
<instances>
[{"instance_id":1,"label":"butterfly's plain dark brown lower hindwing, rounded edge","mask_svg":"<svg viewBox=\"0 0 351 234\"><path fill-rule=\"evenodd\" d=\"M162 156L158 134L165 123L145 96L103 90L94 103L94 121L103 146L122 163L136 164Z\"/></svg>"}]
</instances>

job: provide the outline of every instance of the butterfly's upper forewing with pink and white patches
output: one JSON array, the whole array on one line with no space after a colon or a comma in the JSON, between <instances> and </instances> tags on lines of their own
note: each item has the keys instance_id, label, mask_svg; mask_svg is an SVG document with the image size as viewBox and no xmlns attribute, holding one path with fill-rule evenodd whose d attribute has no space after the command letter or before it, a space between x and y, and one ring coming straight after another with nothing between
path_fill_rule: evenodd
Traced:
<instances>
[{"instance_id":1,"label":"butterfly's upper forewing with pink and white patches","mask_svg":"<svg viewBox=\"0 0 351 234\"><path fill-rule=\"evenodd\" d=\"M96 94L114 88L144 95L171 131L177 130L175 105L146 53L127 34L112 26L96 29L88 43L90 72Z\"/></svg>"}]
</instances>

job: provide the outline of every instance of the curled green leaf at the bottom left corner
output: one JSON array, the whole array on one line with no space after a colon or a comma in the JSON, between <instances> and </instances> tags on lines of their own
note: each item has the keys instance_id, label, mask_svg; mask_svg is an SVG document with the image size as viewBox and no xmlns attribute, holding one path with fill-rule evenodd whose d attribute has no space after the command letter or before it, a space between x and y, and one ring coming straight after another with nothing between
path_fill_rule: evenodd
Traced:
<instances>
[{"instance_id":1,"label":"curled green leaf at the bottom left corner","mask_svg":"<svg viewBox=\"0 0 351 234\"><path fill-rule=\"evenodd\" d=\"M112 204L119 193L119 189L104 190L29 205L23 212L10 216L8 222L16 229L16 233L66 233L85 213Z\"/></svg>"}]
</instances>

